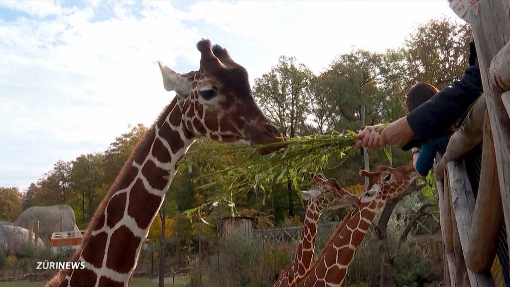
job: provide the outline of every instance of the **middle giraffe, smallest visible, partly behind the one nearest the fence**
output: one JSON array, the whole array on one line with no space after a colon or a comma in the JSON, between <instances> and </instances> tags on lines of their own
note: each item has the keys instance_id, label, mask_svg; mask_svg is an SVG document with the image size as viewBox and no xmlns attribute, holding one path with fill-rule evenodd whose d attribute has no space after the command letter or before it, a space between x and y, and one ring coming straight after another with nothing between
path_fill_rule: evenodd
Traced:
<instances>
[{"instance_id":1,"label":"middle giraffe, smallest visible, partly behind the one nearest the fence","mask_svg":"<svg viewBox=\"0 0 510 287\"><path fill-rule=\"evenodd\" d=\"M322 175L315 174L312 174L312 178L317 188L301 192L303 199L308 200L308 204L294 259L286 269L282 270L273 287L290 286L310 269L322 211L339 209L348 204L360 205L360 199L343 189L335 178L326 180Z\"/></svg>"}]
</instances>

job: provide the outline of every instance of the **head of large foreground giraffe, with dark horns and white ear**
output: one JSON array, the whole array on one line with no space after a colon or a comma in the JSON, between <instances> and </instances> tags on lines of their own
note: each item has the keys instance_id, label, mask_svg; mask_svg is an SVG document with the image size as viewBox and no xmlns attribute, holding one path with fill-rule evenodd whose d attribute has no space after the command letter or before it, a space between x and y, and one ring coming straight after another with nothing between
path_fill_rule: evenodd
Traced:
<instances>
[{"instance_id":1,"label":"head of large foreground giraffe, with dark horns and white ear","mask_svg":"<svg viewBox=\"0 0 510 287\"><path fill-rule=\"evenodd\" d=\"M271 143L283 136L269 123L252 97L246 69L211 41L197 43L199 71L178 74L159 63L163 85L177 94L179 113L170 122L185 136L206 136L233 145Z\"/></svg>"}]
</instances>

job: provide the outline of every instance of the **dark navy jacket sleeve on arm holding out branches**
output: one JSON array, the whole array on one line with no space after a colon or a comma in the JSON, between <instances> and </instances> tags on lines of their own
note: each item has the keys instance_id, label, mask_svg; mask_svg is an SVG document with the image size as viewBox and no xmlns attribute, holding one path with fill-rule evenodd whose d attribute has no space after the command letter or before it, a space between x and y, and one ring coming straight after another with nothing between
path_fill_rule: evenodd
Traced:
<instances>
[{"instance_id":1,"label":"dark navy jacket sleeve on arm holding out branches","mask_svg":"<svg viewBox=\"0 0 510 287\"><path fill-rule=\"evenodd\" d=\"M442 89L407 114L407 123L415 137L402 148L404 151L451 133L450 127L459 121L483 92L473 42L469 44L469 48L470 66L466 68L462 79L454 81L451 86Z\"/></svg>"}]
</instances>

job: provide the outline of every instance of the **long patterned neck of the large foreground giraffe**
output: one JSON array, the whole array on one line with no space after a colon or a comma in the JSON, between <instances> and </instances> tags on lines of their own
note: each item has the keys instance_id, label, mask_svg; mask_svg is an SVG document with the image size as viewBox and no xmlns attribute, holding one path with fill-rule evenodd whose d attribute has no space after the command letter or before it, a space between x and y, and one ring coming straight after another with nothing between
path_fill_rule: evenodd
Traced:
<instances>
[{"instance_id":1,"label":"long patterned neck of the large foreground giraffe","mask_svg":"<svg viewBox=\"0 0 510 287\"><path fill-rule=\"evenodd\" d=\"M185 103L175 97L146 132L101 202L73 261L48 286L127 286L149 227L195 137L183 124Z\"/></svg>"}]
</instances>

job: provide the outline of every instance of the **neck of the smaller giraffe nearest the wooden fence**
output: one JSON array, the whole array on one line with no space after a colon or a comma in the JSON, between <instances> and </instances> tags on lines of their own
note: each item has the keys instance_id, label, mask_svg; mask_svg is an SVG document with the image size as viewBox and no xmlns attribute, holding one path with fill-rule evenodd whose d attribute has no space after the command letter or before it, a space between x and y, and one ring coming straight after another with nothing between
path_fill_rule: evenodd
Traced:
<instances>
[{"instance_id":1,"label":"neck of the smaller giraffe nearest the wooden fence","mask_svg":"<svg viewBox=\"0 0 510 287\"><path fill-rule=\"evenodd\" d=\"M347 275L354 254L363 242L382 201L374 200L353 209L340 223L319 258L305 276L292 286L338 286Z\"/></svg>"}]
</instances>

